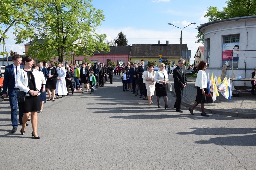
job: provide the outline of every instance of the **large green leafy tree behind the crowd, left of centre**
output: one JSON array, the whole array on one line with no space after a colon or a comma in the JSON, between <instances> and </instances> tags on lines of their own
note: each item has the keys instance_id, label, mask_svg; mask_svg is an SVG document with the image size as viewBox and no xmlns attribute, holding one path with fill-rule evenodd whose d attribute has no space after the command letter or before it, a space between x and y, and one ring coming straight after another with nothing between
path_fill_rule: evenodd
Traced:
<instances>
[{"instance_id":1,"label":"large green leafy tree behind the crowd, left of centre","mask_svg":"<svg viewBox=\"0 0 256 170\"><path fill-rule=\"evenodd\" d=\"M70 51L91 57L95 51L109 52L104 43L106 34L97 34L96 28L104 20L102 10L90 4L92 0L47 0L43 10L35 16L36 41L29 48L31 55L49 61L59 57L59 62L71 60Z\"/></svg>"}]
</instances>

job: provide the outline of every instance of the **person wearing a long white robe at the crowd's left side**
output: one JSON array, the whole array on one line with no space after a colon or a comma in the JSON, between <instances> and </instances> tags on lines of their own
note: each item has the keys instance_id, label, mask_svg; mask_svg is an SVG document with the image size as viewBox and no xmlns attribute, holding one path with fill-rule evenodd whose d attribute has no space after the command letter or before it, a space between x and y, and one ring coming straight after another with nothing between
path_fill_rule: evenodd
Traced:
<instances>
[{"instance_id":1,"label":"person wearing a long white robe at the crowd's left side","mask_svg":"<svg viewBox=\"0 0 256 170\"><path fill-rule=\"evenodd\" d=\"M57 77L57 84L56 84L56 96L57 96L57 98L59 98L59 95L62 95L62 98L63 98L68 93L68 90L67 90L67 87L66 87L66 80L65 80L65 77L66 77L67 73L65 71L65 68L61 67L61 65L62 65L62 63L59 63L58 68L57 68L58 73L59 73L59 76Z\"/></svg>"}]
</instances>

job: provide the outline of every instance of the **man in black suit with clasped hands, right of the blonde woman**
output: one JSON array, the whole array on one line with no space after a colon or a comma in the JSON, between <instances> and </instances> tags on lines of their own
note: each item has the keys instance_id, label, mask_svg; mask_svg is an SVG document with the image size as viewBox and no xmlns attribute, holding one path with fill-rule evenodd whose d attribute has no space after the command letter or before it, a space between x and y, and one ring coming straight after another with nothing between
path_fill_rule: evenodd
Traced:
<instances>
[{"instance_id":1,"label":"man in black suit with clasped hands, right of the blonde woman","mask_svg":"<svg viewBox=\"0 0 256 170\"><path fill-rule=\"evenodd\" d=\"M183 112L181 110L181 99L183 96L183 89L187 85L186 69L183 68L184 64L185 60L181 58L178 61L178 66L173 69L174 89L176 93L174 108L176 108L176 112Z\"/></svg>"}]
</instances>

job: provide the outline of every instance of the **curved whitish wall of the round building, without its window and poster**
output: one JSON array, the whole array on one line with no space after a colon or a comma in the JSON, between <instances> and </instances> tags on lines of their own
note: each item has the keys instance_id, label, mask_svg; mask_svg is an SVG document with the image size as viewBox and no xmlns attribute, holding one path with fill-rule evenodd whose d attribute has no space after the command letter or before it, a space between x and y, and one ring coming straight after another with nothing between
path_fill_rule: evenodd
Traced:
<instances>
[{"instance_id":1,"label":"curved whitish wall of the round building, without its window and poster","mask_svg":"<svg viewBox=\"0 0 256 170\"><path fill-rule=\"evenodd\" d=\"M233 73L235 77L240 75L251 78L251 73L256 67L256 51L248 50L256 50L256 16L252 18L239 17L238 19L224 20L213 24L209 23L202 27L200 31L204 33L204 39L210 38L210 65L205 71L213 72L217 77L221 75L223 36L239 34L239 63L238 68L233 68ZM204 49L206 54L206 44ZM228 70L227 68L225 75L231 77L232 68ZM244 81L236 81L234 85L244 86ZM251 86L251 82L247 81L245 86Z\"/></svg>"}]
</instances>

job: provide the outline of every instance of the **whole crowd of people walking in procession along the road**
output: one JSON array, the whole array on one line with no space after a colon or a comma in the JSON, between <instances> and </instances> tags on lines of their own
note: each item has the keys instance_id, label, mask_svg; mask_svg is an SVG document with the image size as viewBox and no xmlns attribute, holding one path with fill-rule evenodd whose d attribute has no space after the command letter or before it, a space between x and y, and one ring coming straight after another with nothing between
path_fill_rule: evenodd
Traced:
<instances>
[{"instance_id":1,"label":"whole crowd of people walking in procession along the road","mask_svg":"<svg viewBox=\"0 0 256 170\"><path fill-rule=\"evenodd\" d=\"M22 124L20 133L25 134L27 121L31 120L32 124L32 137L40 139L37 134L37 113L43 112L43 104L46 101L54 102L61 95L62 98L74 94L76 91L94 93L95 88L104 87L105 83L109 81L113 83L113 75L120 75L123 84L123 92L131 91L135 96L139 95L140 98L146 100L148 98L148 105L153 103L153 96L156 93L157 108L161 108L160 99L163 97L165 109L170 108L168 106L168 88L169 82L168 74L173 73L174 89L176 92L176 102L174 108L176 112L181 111L181 100L183 96L183 89L186 87L186 71L183 69L185 64L184 59L178 61L178 65L173 67L166 67L164 63L161 63L158 67L158 71L154 71L154 65L150 64L148 67L145 65L145 61L141 60L140 63L128 62L126 66L112 67L105 66L104 63L95 63L91 67L90 64L66 64L58 63L55 67L53 61L45 63L39 61L38 64L34 64L35 59L32 56L26 56L22 58L19 54L15 54L12 58L13 64L6 66L3 81L3 97L9 96L11 106L11 121L13 129L11 133L17 131L18 123ZM202 116L209 116L204 113L205 103L205 84L206 74L205 69L207 63L202 61L198 65L198 76L196 79L197 96L196 102L193 107L189 108L190 113L193 115L193 109L199 103L201 104ZM90 87L89 87L90 84ZM86 90L84 89L84 85ZM7 94L8 90L8 94ZM139 91L138 91L139 90ZM24 93L24 100L21 104L18 102L20 99L20 92ZM47 94L49 99L46 99ZM17 118L17 106L19 106L19 122ZM31 119L30 119L31 116Z\"/></svg>"}]
</instances>

